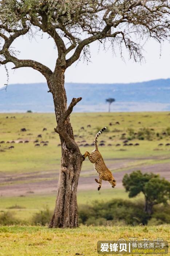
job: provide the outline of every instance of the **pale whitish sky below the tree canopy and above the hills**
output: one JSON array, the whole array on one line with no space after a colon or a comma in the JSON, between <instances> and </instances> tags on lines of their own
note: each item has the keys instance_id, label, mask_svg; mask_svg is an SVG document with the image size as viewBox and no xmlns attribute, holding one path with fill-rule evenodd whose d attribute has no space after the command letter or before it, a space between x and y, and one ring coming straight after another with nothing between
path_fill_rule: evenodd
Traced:
<instances>
[{"instance_id":1,"label":"pale whitish sky below the tree canopy and above the hills","mask_svg":"<svg viewBox=\"0 0 170 256\"><path fill-rule=\"evenodd\" d=\"M37 60L52 70L55 66L57 50L54 49L52 39L46 36L41 39L29 41L28 37L18 38L12 45L20 51L19 59ZM126 54L125 63L120 54L113 56L111 49L105 52L99 45L91 44L91 63L88 65L83 60L77 61L66 71L65 81L76 83L129 83L170 78L170 44L162 45L160 58L160 45L151 40L144 46L145 61L142 64L134 63ZM43 75L31 68L19 68L11 70L13 64L8 64L9 84L13 83L38 83L46 82ZM6 74L3 66L0 66L0 86L6 83Z\"/></svg>"}]
</instances>

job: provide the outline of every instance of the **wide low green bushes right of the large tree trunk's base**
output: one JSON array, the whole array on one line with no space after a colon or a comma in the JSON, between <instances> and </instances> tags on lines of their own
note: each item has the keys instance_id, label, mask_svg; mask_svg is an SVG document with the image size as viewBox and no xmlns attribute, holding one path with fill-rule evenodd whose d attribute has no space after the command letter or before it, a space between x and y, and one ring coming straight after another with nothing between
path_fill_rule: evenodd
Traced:
<instances>
[{"instance_id":1,"label":"wide low green bushes right of the large tree trunk's base","mask_svg":"<svg viewBox=\"0 0 170 256\"><path fill-rule=\"evenodd\" d=\"M143 212L142 202L114 199L108 202L94 201L92 206L79 207L79 223L86 225L115 225L115 223L147 224L149 217ZM139 219L139 221L138 221Z\"/></svg>"}]
</instances>

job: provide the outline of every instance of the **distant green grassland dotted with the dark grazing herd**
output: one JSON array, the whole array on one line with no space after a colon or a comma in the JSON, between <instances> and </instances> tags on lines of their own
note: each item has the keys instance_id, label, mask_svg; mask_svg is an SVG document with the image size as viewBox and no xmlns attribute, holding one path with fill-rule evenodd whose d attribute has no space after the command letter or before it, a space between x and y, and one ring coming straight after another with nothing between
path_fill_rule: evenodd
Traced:
<instances>
[{"instance_id":1,"label":"distant green grassland dotted with the dark grazing herd","mask_svg":"<svg viewBox=\"0 0 170 256\"><path fill-rule=\"evenodd\" d=\"M8 118L6 118L8 116ZM15 118L11 118L15 116ZM116 124L119 122L119 124ZM120 159L120 158L146 158L155 157L155 161L170 161L170 146L165 146L170 142L170 136L162 135L170 125L169 112L156 113L73 113L71 115L71 123L73 125L74 134L78 144L93 143L96 132L106 126L105 132L100 140L105 141L105 145L100 147L104 159ZM112 123L110 126L109 123ZM91 127L87 128L90 124ZM43 131L43 128L47 131ZM54 132L56 127L55 116L52 113L24 113L24 114L0 114L0 144L1 173L27 173L54 171L59 172L61 148L59 136ZM81 129L84 127L84 129ZM20 132L21 128L26 128L26 132ZM123 146L122 133L126 133L124 139L130 137L128 129L134 129L137 133L140 129L154 129L155 135L151 140L133 139L130 142L139 146ZM156 136L159 133L159 136ZM42 138L38 138L39 142L49 141L48 146L35 147L33 141L37 139L37 135L41 134ZM29 143L8 143L7 141L25 141ZM86 142L82 142L82 141ZM158 147L162 143L163 146ZM111 146L108 146L111 144ZM116 144L121 146L116 147ZM8 149L9 146L13 149ZM90 151L94 147L80 146L82 154L87 149ZM159 159L157 159L159 158ZM161 159L160 159L161 158ZM167 159L168 158L168 159ZM150 159L148 159L150 161ZM86 170L91 165L90 162L83 163L82 170Z\"/></svg>"}]
</instances>

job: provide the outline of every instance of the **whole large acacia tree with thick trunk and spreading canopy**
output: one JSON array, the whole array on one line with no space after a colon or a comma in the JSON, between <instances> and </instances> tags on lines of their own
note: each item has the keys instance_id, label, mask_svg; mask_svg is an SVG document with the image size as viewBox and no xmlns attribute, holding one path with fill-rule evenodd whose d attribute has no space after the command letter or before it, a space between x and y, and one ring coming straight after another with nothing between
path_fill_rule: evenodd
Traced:
<instances>
[{"instance_id":1,"label":"whole large acacia tree with thick trunk and spreading canopy","mask_svg":"<svg viewBox=\"0 0 170 256\"><path fill-rule=\"evenodd\" d=\"M88 58L89 44L108 39L129 52L135 61L142 59L143 39L158 42L169 36L168 0L1 0L0 64L13 68L31 67L47 80L54 99L57 127L62 147L57 199L50 227L78 226L76 191L83 156L75 142L69 116L82 98L73 98L67 108L64 72L82 54ZM58 57L52 71L34 60L21 60L12 43L20 36L37 31L54 39ZM48 48L48 46L47 46Z\"/></svg>"}]
</instances>

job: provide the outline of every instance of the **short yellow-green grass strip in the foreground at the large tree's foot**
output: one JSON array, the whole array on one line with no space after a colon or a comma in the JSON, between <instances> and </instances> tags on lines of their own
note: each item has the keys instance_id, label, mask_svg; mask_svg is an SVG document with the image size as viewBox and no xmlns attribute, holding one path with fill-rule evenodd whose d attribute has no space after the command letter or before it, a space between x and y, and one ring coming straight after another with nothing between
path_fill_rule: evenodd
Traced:
<instances>
[{"instance_id":1,"label":"short yellow-green grass strip in the foreground at the large tree's foot","mask_svg":"<svg viewBox=\"0 0 170 256\"><path fill-rule=\"evenodd\" d=\"M170 225L150 227L80 226L76 229L48 229L47 227L39 226L0 226L0 255L95 256L98 255L96 249L97 241L117 241L120 238L129 241L129 238L135 237L138 241L144 238L149 238L150 241L163 238L163 240L170 242L169 230ZM170 252L166 255L170 255Z\"/></svg>"}]
</instances>

